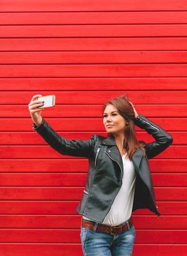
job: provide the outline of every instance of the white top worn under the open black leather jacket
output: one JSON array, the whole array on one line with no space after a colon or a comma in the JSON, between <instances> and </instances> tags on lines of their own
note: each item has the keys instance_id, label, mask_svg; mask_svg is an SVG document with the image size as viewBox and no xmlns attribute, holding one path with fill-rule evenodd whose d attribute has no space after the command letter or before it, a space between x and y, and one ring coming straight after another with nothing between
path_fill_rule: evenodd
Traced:
<instances>
[{"instance_id":1,"label":"white top worn under the open black leather jacket","mask_svg":"<svg viewBox=\"0 0 187 256\"><path fill-rule=\"evenodd\" d=\"M122 161L122 186L116 195L109 213L102 222L103 224L118 225L124 223L131 217L136 184L136 170L133 163L129 160L129 157L127 157L127 153L122 156ZM89 218L85 219L90 220Z\"/></svg>"}]
</instances>

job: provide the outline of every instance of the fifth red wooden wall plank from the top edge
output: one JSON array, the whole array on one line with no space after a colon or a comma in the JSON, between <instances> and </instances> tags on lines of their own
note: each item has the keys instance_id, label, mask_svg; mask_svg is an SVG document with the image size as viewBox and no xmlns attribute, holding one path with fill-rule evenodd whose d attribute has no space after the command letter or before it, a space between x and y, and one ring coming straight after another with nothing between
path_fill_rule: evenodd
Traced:
<instances>
[{"instance_id":1,"label":"fifth red wooden wall plank from the top edge","mask_svg":"<svg viewBox=\"0 0 187 256\"><path fill-rule=\"evenodd\" d=\"M0 52L0 64L187 63L187 51Z\"/></svg>"}]
</instances>

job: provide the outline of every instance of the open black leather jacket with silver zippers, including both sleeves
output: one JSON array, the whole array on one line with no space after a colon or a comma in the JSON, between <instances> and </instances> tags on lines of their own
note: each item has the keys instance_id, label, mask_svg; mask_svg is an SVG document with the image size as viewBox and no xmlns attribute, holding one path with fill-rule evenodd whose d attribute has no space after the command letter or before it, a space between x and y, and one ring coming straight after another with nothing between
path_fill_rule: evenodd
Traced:
<instances>
[{"instance_id":1,"label":"open black leather jacket with silver zippers, including both sleeves","mask_svg":"<svg viewBox=\"0 0 187 256\"><path fill-rule=\"evenodd\" d=\"M137 172L132 211L147 208L160 216L147 159L165 150L173 139L160 126L142 115L138 115L134 123L151 134L155 141L145 144L146 155L138 148L132 156ZM122 184L123 163L114 137L92 135L87 140L68 140L60 137L44 119L39 127L33 124L33 129L60 154L89 159L87 182L76 211L87 218L103 222Z\"/></svg>"}]
</instances>

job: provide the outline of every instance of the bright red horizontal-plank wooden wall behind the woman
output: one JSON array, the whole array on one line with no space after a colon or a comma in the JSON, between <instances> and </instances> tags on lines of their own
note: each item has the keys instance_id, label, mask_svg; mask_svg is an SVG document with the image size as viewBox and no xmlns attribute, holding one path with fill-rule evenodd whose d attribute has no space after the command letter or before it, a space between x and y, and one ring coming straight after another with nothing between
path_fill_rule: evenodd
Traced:
<instances>
[{"instance_id":1,"label":"bright red horizontal-plank wooden wall behind the woman","mask_svg":"<svg viewBox=\"0 0 187 256\"><path fill-rule=\"evenodd\" d=\"M36 93L56 94L43 116L68 138L105 134L101 106L123 93L173 135L149 162L162 216L133 214L133 256L186 256L186 0L0 1L0 91L0 256L82 256L88 162L33 132Z\"/></svg>"}]
</instances>

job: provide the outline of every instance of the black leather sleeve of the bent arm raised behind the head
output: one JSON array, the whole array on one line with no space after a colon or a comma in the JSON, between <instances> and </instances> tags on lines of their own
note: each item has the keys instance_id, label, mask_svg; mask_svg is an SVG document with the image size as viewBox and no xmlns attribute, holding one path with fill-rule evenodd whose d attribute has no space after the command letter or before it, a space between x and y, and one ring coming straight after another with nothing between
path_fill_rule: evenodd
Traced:
<instances>
[{"instance_id":1,"label":"black leather sleeve of the bent arm raised behind the head","mask_svg":"<svg viewBox=\"0 0 187 256\"><path fill-rule=\"evenodd\" d=\"M155 139L155 141L145 144L148 159L160 154L173 142L171 135L141 114L135 119L134 124L141 129L145 129Z\"/></svg>"}]
</instances>

